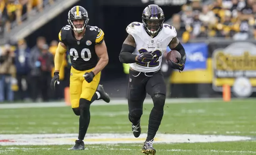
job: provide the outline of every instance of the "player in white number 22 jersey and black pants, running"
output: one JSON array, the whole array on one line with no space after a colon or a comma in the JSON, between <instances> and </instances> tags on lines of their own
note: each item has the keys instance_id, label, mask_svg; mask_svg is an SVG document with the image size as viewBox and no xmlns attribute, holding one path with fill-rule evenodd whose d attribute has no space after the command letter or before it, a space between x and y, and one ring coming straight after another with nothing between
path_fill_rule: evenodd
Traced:
<instances>
[{"instance_id":1,"label":"player in white number 22 jersey and black pants, running","mask_svg":"<svg viewBox=\"0 0 256 155\"><path fill-rule=\"evenodd\" d=\"M133 22L127 26L128 37L122 45L119 60L130 64L130 79L128 84L128 118L132 123L135 137L141 133L140 118L143 102L148 93L153 100L153 109L149 115L147 139L142 147L142 153L155 154L153 139L161 124L163 107L165 105L166 87L161 73L161 61L167 46L180 52L181 59L168 64L178 70L184 69L186 53L176 37L173 26L164 24L163 10L157 5L147 6L142 13L142 23Z\"/></svg>"}]
</instances>

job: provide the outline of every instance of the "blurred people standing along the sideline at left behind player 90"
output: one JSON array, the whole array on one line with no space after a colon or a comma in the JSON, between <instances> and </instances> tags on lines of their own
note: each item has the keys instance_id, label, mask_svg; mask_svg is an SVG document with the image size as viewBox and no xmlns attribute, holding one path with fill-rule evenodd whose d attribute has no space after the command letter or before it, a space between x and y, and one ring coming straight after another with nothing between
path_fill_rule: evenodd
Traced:
<instances>
[{"instance_id":1,"label":"blurred people standing along the sideline at left behind player 90","mask_svg":"<svg viewBox=\"0 0 256 155\"><path fill-rule=\"evenodd\" d=\"M70 74L67 55L60 69L62 81L56 91L50 89L57 46L57 40L48 46L44 37L38 37L37 45L31 49L25 40L19 40L16 46L6 44L0 48L0 102L26 99L47 102L64 98Z\"/></svg>"}]
</instances>

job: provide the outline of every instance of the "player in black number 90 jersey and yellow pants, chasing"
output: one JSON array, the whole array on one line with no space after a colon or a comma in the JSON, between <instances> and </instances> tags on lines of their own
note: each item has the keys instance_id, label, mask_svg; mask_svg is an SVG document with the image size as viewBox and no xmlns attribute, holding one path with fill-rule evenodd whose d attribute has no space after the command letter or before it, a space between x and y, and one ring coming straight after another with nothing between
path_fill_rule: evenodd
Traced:
<instances>
[{"instance_id":1,"label":"player in black number 90 jersey and yellow pants, chasing","mask_svg":"<svg viewBox=\"0 0 256 155\"><path fill-rule=\"evenodd\" d=\"M70 70L70 100L74 113L79 115L79 135L72 150L85 149L83 139L90 122L90 104L103 99L110 102L109 95L99 85L101 70L108 64L109 57L104 41L104 32L97 26L87 25L87 11L75 6L68 12L68 24L59 33L59 44L54 58L55 72L51 81L54 89L59 83L59 70L63 54L69 51L72 67Z\"/></svg>"}]
</instances>

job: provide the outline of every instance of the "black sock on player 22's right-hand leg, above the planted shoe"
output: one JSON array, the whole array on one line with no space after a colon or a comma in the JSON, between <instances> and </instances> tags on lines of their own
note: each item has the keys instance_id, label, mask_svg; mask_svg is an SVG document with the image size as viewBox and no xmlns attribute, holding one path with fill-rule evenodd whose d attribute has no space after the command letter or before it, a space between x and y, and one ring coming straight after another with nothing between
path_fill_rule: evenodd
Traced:
<instances>
[{"instance_id":1,"label":"black sock on player 22's right-hand leg, above the planted shoe","mask_svg":"<svg viewBox=\"0 0 256 155\"><path fill-rule=\"evenodd\" d=\"M154 139L155 134L161 124L163 118L163 110L156 110L155 107L151 110L148 121L148 131L146 141Z\"/></svg>"}]
</instances>

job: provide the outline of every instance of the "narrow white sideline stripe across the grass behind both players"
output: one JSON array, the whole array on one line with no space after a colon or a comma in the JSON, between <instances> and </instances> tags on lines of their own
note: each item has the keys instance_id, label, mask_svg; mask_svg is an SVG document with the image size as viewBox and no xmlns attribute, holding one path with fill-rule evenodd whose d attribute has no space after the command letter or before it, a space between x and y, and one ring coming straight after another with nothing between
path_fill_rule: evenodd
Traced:
<instances>
[{"instance_id":1,"label":"narrow white sideline stripe across the grass behind both players","mask_svg":"<svg viewBox=\"0 0 256 155\"><path fill-rule=\"evenodd\" d=\"M232 99L241 100L241 99ZM243 99L243 101L253 100L253 98ZM180 104L180 103L209 103L209 102L221 102L222 98L167 98L165 104ZM111 105L126 105L127 99L125 98L113 98L110 103L106 103L103 100L94 101L91 106L111 106ZM144 104L153 104L151 98L146 98ZM0 109L16 109L16 108L43 108L43 107L64 107L67 106L65 102L38 102L38 103L0 103Z\"/></svg>"}]
</instances>

